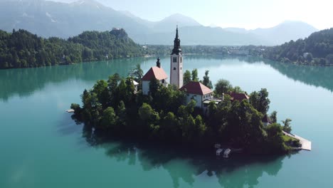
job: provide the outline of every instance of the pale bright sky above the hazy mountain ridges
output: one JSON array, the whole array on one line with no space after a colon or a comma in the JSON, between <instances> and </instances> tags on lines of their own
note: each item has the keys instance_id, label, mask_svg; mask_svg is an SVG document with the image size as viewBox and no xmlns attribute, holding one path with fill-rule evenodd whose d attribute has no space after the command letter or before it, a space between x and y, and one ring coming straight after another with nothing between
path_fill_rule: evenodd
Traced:
<instances>
[{"instance_id":1,"label":"pale bright sky above the hazy mountain ridges","mask_svg":"<svg viewBox=\"0 0 333 188\"><path fill-rule=\"evenodd\" d=\"M75 0L53 0L72 2ZM116 10L159 21L184 14L208 26L267 28L286 20L333 27L333 0L96 0Z\"/></svg>"}]
</instances>

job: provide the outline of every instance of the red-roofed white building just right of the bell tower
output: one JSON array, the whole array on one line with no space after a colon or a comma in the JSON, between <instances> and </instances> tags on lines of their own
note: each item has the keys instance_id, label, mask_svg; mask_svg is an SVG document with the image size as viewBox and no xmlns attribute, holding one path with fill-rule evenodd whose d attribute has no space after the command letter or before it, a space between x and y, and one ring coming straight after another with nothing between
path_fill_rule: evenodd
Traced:
<instances>
[{"instance_id":1,"label":"red-roofed white building just right of the bell tower","mask_svg":"<svg viewBox=\"0 0 333 188\"><path fill-rule=\"evenodd\" d=\"M191 81L183 85L179 90L186 92L186 103L196 100L196 107L203 108L203 101L212 98L213 90L200 82Z\"/></svg>"}]
</instances>

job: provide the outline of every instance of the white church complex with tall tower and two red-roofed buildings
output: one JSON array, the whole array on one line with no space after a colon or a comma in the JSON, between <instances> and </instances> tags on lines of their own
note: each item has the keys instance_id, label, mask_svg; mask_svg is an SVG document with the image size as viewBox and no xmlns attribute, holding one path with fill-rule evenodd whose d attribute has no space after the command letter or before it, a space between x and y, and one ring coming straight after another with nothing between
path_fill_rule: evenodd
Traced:
<instances>
[{"instance_id":1,"label":"white church complex with tall tower and two red-roofed buildings","mask_svg":"<svg viewBox=\"0 0 333 188\"><path fill-rule=\"evenodd\" d=\"M149 95L149 82L152 78L156 78L159 82L167 86L168 75L161 66L159 58L157 58L157 65L150 68L149 71L142 77L142 93ZM186 103L191 100L196 100L196 106L203 108L203 101L209 100L213 97L213 90L199 82L189 82L183 85L183 55L181 53L180 39L178 27L176 28L176 37L174 38L174 48L170 54L170 84L175 85L179 90L186 92Z\"/></svg>"}]
</instances>

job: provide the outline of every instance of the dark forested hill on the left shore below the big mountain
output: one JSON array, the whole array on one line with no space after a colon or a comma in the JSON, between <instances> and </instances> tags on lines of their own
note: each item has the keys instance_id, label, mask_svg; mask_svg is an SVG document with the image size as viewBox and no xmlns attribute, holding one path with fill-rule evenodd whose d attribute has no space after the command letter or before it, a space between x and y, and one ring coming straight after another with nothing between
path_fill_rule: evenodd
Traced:
<instances>
[{"instance_id":1,"label":"dark forested hill on the left shore below the big mountain","mask_svg":"<svg viewBox=\"0 0 333 188\"><path fill-rule=\"evenodd\" d=\"M0 68L31 68L143 56L123 29L85 31L68 38L41 38L25 30L0 30Z\"/></svg>"}]
</instances>

